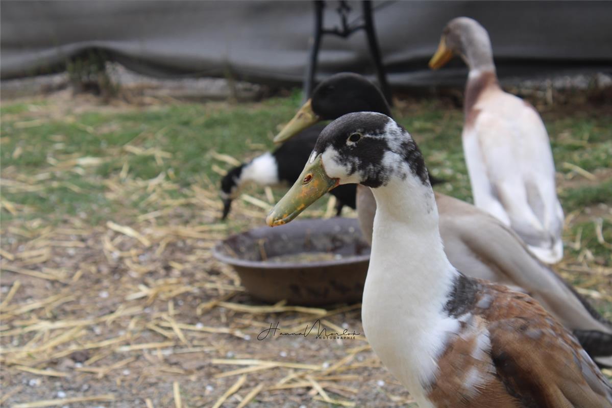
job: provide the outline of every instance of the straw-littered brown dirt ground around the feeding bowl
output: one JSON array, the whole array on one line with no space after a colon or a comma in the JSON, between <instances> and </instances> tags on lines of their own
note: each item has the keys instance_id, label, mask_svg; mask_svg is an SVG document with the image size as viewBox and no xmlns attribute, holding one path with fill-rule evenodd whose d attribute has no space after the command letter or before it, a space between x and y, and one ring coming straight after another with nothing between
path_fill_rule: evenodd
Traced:
<instances>
[{"instance_id":1,"label":"straw-littered brown dirt ground around the feeding bowl","mask_svg":"<svg viewBox=\"0 0 612 408\"><path fill-rule=\"evenodd\" d=\"M610 177L609 170L596 174ZM118 187L119 177L104 181L107 194L147 191L157 209L118 213L93 227L86 214L2 224L2 407L242 407L250 399L248 407L411 406L370 350L360 305L264 305L212 257L230 234L218 221L214 185L173 199L165 195L171 183L133 180L130 190ZM27 188L16 172L2 178ZM559 181L561 188L577 182ZM261 226L265 214L237 202L232 217ZM600 205L570 221L610 215ZM610 302L612 270L588 253L557 270L580 275L584 288L597 279L600 291L581 293ZM300 332L316 321L329 332L360 334L321 339L315 328L258 339L271 324Z\"/></svg>"}]
</instances>

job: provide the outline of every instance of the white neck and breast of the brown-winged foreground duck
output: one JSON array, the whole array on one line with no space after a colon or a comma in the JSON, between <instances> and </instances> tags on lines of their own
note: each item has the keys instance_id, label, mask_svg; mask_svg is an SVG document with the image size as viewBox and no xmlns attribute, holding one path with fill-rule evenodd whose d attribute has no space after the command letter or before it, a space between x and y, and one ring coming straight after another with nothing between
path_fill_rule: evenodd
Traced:
<instances>
[{"instance_id":1,"label":"white neck and breast of the brown-winged foreground duck","mask_svg":"<svg viewBox=\"0 0 612 408\"><path fill-rule=\"evenodd\" d=\"M362 321L365 335L389 371L419 404L435 378L437 359L458 322L444 310L457 270L438 229L429 185L409 174L373 188L376 216Z\"/></svg>"}]
</instances>

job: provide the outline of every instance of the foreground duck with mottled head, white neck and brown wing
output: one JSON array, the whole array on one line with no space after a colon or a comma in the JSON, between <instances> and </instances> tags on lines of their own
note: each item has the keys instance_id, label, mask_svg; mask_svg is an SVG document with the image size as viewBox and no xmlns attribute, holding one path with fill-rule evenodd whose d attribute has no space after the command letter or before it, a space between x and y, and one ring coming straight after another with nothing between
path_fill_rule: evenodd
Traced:
<instances>
[{"instance_id":1,"label":"foreground duck with mottled head, white neck and brown wing","mask_svg":"<svg viewBox=\"0 0 612 408\"><path fill-rule=\"evenodd\" d=\"M452 265L424 158L389 116L349 113L327 125L266 223L288 223L347 183L370 188L377 206L365 336L419 407L612 407L612 386L538 302Z\"/></svg>"}]
</instances>

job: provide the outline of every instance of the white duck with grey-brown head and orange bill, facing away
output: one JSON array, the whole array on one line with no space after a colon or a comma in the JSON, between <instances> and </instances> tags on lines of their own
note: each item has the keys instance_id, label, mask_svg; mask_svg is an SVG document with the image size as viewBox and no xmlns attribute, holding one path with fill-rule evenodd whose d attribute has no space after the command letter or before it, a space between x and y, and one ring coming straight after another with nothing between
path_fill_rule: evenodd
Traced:
<instances>
[{"instance_id":1,"label":"white duck with grey-brown head and orange bill, facing away","mask_svg":"<svg viewBox=\"0 0 612 408\"><path fill-rule=\"evenodd\" d=\"M444 28L431 69L453 55L468 65L461 139L474 204L510 226L543 262L563 258L563 209L548 133L534 106L504 92L488 32L458 17Z\"/></svg>"}]
</instances>

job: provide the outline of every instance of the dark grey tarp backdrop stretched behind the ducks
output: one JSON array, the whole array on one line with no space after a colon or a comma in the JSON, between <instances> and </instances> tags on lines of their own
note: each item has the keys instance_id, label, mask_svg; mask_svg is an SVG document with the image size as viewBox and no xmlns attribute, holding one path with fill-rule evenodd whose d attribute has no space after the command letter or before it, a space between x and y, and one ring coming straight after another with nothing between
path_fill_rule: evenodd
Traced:
<instances>
[{"instance_id":1,"label":"dark grey tarp backdrop stretched behind the ducks","mask_svg":"<svg viewBox=\"0 0 612 408\"><path fill-rule=\"evenodd\" d=\"M349 2L349 21L361 13ZM328 1L324 25L338 25ZM298 84L313 32L310 1L13 1L1 7L2 79L64 70L99 48L154 76L225 76ZM491 35L500 76L564 70L612 71L610 1L376 1L376 32L389 80L428 85L465 80L460 61L432 73L427 61L453 17L476 18ZM373 73L363 31L326 35L319 75Z\"/></svg>"}]
</instances>

